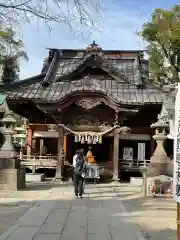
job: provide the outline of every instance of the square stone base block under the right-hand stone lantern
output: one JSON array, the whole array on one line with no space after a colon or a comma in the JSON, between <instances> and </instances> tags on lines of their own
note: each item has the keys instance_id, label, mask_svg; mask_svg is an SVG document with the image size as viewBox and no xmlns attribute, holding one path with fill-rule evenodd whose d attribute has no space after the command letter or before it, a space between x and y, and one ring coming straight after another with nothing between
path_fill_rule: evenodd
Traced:
<instances>
[{"instance_id":1,"label":"square stone base block under the right-hand stone lantern","mask_svg":"<svg viewBox=\"0 0 180 240\"><path fill-rule=\"evenodd\" d=\"M150 163L148 165L147 177L159 175L173 176L173 164L171 163Z\"/></svg>"}]
</instances>

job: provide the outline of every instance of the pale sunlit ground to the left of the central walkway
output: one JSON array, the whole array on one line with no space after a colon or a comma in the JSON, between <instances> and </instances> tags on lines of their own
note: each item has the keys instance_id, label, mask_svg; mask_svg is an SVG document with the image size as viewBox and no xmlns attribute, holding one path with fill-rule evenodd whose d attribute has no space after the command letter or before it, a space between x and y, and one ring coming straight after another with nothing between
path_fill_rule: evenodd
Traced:
<instances>
[{"instance_id":1,"label":"pale sunlit ground to the left of the central walkway","mask_svg":"<svg viewBox=\"0 0 180 240\"><path fill-rule=\"evenodd\" d=\"M23 191L0 191L0 235L2 235L18 218L34 206L37 201L51 193L52 182L30 183Z\"/></svg>"}]
</instances>

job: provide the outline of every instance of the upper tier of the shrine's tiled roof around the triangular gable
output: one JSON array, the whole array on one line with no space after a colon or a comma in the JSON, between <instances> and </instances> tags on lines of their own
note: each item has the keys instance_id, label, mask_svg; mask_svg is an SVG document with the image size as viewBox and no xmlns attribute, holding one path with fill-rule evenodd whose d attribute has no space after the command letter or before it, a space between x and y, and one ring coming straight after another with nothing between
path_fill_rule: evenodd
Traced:
<instances>
[{"instance_id":1,"label":"upper tier of the shrine's tiled roof around the triangular gable","mask_svg":"<svg viewBox=\"0 0 180 240\"><path fill-rule=\"evenodd\" d=\"M72 75L78 70L98 66L99 68L105 68L108 72L127 82L138 85L142 81L143 68L141 68L141 64L143 65L143 61L138 58L138 52L132 56L117 57L116 55L106 55L105 51L95 53L91 51L76 51L72 55L72 53L65 54L63 51L51 49L49 58L44 61L43 65L42 72L46 72L48 76L43 84L72 80ZM54 72L53 76L49 73L50 69Z\"/></svg>"}]
</instances>

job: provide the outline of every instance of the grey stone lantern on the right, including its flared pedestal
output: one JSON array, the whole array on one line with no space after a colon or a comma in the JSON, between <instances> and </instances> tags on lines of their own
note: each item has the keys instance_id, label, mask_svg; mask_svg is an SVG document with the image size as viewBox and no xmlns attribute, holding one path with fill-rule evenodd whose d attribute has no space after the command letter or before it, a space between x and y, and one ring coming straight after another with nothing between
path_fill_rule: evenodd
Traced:
<instances>
[{"instance_id":1,"label":"grey stone lantern on the right, including its flared pedestal","mask_svg":"<svg viewBox=\"0 0 180 240\"><path fill-rule=\"evenodd\" d=\"M155 135L153 138L157 143L157 147L154 151L154 154L150 158L147 176L171 176L172 173L170 170L170 159L163 147L164 141L167 139L166 132L169 129L169 115L164 106L162 107L161 113L158 115L157 122L152 124L151 128L155 129Z\"/></svg>"}]
</instances>

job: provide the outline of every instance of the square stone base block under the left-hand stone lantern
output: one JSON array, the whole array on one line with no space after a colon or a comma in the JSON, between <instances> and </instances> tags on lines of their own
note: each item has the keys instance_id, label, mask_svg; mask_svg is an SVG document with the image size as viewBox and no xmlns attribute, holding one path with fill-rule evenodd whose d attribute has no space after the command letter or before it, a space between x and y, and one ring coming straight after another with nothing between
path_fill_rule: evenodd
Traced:
<instances>
[{"instance_id":1,"label":"square stone base block under the left-hand stone lantern","mask_svg":"<svg viewBox=\"0 0 180 240\"><path fill-rule=\"evenodd\" d=\"M0 169L0 190L17 191L25 187L24 169Z\"/></svg>"}]
</instances>

